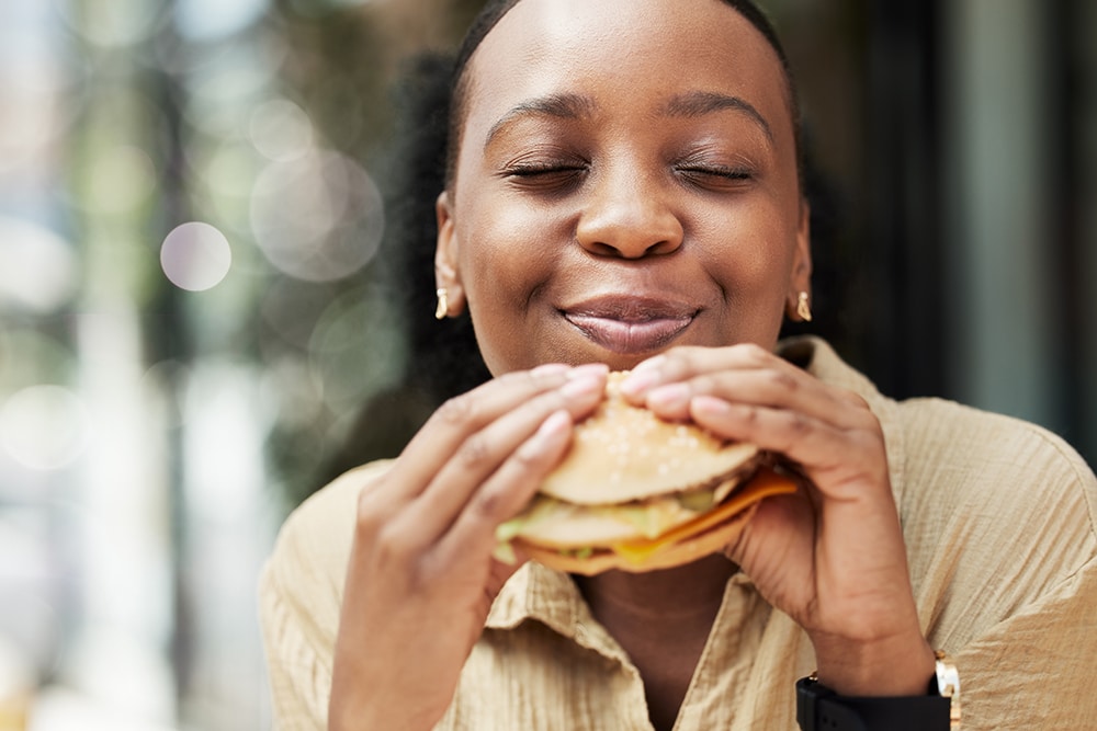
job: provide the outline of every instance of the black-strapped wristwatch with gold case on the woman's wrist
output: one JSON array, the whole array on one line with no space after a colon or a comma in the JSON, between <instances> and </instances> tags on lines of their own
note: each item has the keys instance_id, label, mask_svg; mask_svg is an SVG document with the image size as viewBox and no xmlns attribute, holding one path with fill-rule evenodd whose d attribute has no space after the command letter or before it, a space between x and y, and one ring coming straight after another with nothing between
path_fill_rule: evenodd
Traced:
<instances>
[{"instance_id":1,"label":"black-strapped wristwatch with gold case on the woman's wrist","mask_svg":"<svg viewBox=\"0 0 1097 731\"><path fill-rule=\"evenodd\" d=\"M839 696L814 673L796 682L802 731L959 731L960 675L943 653L924 696Z\"/></svg>"}]
</instances>

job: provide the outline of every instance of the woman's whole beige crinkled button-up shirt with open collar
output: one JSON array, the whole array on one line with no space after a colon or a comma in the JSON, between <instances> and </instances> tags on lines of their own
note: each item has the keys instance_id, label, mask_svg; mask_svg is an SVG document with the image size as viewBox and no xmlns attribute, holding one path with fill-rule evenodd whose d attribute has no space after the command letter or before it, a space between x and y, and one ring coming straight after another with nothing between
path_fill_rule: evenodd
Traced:
<instances>
[{"instance_id":1,"label":"woman's whole beige crinkled button-up shirt with open collar","mask_svg":"<svg viewBox=\"0 0 1097 731\"><path fill-rule=\"evenodd\" d=\"M783 351L860 393L883 425L919 616L959 667L963 728L1097 729L1097 482L1085 462L1031 424L886 399L822 341ZM263 574L275 716L287 731L326 726L355 498L384 469L367 466L307 500ZM676 729L794 731L793 684L813 666L800 628L736 576ZM438 728L652 727L635 666L572 580L527 564L497 598Z\"/></svg>"}]
</instances>

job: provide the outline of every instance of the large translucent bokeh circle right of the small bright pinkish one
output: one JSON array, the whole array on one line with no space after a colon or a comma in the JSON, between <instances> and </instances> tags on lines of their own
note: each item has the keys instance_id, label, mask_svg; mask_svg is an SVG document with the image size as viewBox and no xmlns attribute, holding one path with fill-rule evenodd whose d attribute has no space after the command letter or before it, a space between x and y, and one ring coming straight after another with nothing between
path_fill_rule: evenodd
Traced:
<instances>
[{"instance_id":1,"label":"large translucent bokeh circle right of the small bright pinkish one","mask_svg":"<svg viewBox=\"0 0 1097 731\"><path fill-rule=\"evenodd\" d=\"M256 181L251 229L267 259L292 277L333 282L376 253L385 217L365 170L326 150L273 162Z\"/></svg>"}]
</instances>

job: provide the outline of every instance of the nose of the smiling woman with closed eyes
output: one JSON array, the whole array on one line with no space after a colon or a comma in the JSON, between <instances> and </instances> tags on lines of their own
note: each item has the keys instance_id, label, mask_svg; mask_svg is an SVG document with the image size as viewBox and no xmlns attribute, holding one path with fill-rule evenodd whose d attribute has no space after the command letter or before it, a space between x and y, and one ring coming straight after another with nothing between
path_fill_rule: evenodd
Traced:
<instances>
[{"instance_id":1,"label":"nose of the smiling woman with closed eyes","mask_svg":"<svg viewBox=\"0 0 1097 731\"><path fill-rule=\"evenodd\" d=\"M681 221L669 205L670 192L635 169L603 171L591 181L576 237L602 256L640 259L669 254L682 243Z\"/></svg>"}]
</instances>

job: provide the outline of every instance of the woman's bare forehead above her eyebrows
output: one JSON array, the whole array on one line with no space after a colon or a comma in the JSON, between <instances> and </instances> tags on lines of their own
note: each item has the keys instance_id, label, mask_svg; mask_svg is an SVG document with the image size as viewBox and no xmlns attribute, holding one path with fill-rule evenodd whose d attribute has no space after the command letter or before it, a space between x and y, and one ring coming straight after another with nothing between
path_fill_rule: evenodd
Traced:
<instances>
[{"instance_id":1,"label":"woman's bare forehead above her eyebrows","mask_svg":"<svg viewBox=\"0 0 1097 731\"><path fill-rule=\"evenodd\" d=\"M632 107L683 89L740 95L792 122L777 52L721 0L522 0L467 72L466 123L523 98L569 92Z\"/></svg>"}]
</instances>

